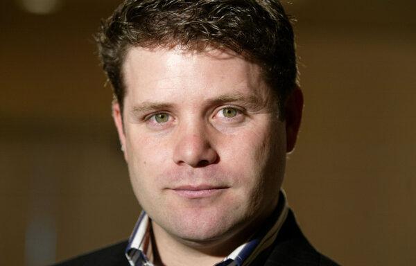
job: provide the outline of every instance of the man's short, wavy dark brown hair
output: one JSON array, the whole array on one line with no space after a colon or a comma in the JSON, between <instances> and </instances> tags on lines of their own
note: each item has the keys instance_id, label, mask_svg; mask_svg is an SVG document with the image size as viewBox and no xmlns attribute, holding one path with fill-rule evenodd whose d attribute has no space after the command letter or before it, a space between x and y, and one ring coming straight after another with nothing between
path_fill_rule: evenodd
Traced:
<instances>
[{"instance_id":1,"label":"man's short, wavy dark brown hair","mask_svg":"<svg viewBox=\"0 0 416 266\"><path fill-rule=\"evenodd\" d=\"M126 0L101 25L98 51L123 108L128 48L228 48L257 62L280 112L296 82L293 29L277 0Z\"/></svg>"}]
</instances>

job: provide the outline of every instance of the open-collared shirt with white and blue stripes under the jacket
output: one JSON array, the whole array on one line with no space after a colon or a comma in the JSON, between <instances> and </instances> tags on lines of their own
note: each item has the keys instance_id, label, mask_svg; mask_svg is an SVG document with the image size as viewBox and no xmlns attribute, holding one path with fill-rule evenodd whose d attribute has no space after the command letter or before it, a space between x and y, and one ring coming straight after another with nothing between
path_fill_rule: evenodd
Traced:
<instances>
[{"instance_id":1,"label":"open-collared shirt with white and blue stripes under the jacket","mask_svg":"<svg viewBox=\"0 0 416 266\"><path fill-rule=\"evenodd\" d=\"M237 247L214 266L245 266L249 265L261 251L269 247L277 237L281 225L286 220L288 204L284 190L280 190L277 208L272 212L265 224L261 224L254 236ZM142 211L130 236L125 256L132 266L153 266L146 256L146 249L150 243L150 218Z\"/></svg>"}]
</instances>

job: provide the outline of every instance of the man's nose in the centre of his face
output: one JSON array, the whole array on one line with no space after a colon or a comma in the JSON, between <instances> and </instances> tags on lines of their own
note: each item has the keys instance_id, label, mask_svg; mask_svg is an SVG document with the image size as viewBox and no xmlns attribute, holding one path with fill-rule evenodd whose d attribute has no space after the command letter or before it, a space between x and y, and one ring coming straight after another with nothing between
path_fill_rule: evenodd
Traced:
<instances>
[{"instance_id":1,"label":"man's nose in the centre of his face","mask_svg":"<svg viewBox=\"0 0 416 266\"><path fill-rule=\"evenodd\" d=\"M207 127L200 124L184 125L178 128L173 152L173 160L178 165L198 168L218 161L218 153L211 143Z\"/></svg>"}]
</instances>

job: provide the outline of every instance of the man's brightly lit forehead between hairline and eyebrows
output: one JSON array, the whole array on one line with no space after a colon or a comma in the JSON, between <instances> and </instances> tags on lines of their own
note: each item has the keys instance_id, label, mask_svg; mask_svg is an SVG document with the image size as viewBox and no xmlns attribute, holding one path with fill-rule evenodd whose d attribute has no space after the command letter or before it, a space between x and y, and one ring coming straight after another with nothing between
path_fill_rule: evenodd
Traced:
<instances>
[{"instance_id":1,"label":"man's brightly lit forehead between hairline and eyebrows","mask_svg":"<svg viewBox=\"0 0 416 266\"><path fill-rule=\"evenodd\" d=\"M270 92L258 64L210 47L205 51L130 48L123 76L126 99L152 100L162 97L160 93L171 99L239 93L267 98Z\"/></svg>"}]
</instances>

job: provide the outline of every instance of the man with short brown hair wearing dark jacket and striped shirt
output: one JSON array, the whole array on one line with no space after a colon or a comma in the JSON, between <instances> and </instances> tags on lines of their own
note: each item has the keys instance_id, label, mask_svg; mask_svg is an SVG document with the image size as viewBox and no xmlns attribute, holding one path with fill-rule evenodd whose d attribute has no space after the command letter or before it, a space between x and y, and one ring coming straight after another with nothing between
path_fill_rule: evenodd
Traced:
<instances>
[{"instance_id":1,"label":"man with short brown hair wearing dark jacket and striped shirt","mask_svg":"<svg viewBox=\"0 0 416 266\"><path fill-rule=\"evenodd\" d=\"M279 192L303 98L278 1L128 0L97 40L144 212L62 265L336 265Z\"/></svg>"}]
</instances>

